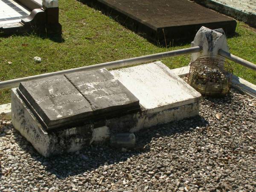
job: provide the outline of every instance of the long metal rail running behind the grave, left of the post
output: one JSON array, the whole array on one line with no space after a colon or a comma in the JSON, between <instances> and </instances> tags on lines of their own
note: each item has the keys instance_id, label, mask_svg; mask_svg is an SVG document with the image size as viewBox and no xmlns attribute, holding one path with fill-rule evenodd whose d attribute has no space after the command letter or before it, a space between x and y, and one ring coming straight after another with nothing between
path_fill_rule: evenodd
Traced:
<instances>
[{"instance_id":1,"label":"long metal rail running behind the grave, left of the post","mask_svg":"<svg viewBox=\"0 0 256 192\"><path fill-rule=\"evenodd\" d=\"M102 63L102 64L78 67L78 68L69 69L69 70L56 71L56 72L52 72L52 73L44 73L44 74L36 75L36 76L12 79L12 80L8 80L8 81L0 82L0 89L17 87L21 81L31 81L31 80L41 79L41 78L45 78L45 77L49 77L49 76L68 74L68 73L74 73L74 72L79 72L79 71L96 70L96 69L102 69L102 68L113 69L116 67L125 67L125 66L133 65L133 64L145 63L145 62L149 62L149 61L156 61L156 60L163 59L163 58L200 52L201 50L202 50L202 48L199 46L190 47L190 48L186 48L186 49L178 49L178 50L174 50L174 51L157 53L157 54L153 54L153 55L145 55L145 56L140 56L140 57L135 57L135 58L111 61L111 62Z\"/></svg>"}]
</instances>

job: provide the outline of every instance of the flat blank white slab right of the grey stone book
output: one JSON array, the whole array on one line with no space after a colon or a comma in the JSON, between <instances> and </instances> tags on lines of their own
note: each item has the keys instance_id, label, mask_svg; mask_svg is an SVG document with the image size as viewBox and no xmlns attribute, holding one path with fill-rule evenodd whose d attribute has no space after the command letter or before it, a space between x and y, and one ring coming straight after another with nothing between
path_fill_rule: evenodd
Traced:
<instances>
[{"instance_id":1,"label":"flat blank white slab right of the grey stone book","mask_svg":"<svg viewBox=\"0 0 256 192\"><path fill-rule=\"evenodd\" d=\"M198 102L201 96L161 61L111 73L152 113Z\"/></svg>"}]
</instances>

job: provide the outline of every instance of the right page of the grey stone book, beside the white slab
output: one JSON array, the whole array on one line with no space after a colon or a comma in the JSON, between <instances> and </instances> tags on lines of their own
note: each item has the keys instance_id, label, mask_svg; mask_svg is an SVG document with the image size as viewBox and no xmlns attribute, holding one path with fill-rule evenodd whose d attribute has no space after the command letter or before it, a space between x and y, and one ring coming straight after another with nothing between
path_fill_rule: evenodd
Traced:
<instances>
[{"instance_id":1,"label":"right page of the grey stone book, beside the white slab","mask_svg":"<svg viewBox=\"0 0 256 192\"><path fill-rule=\"evenodd\" d=\"M139 106L139 100L105 68L71 73L66 77L97 113L133 110Z\"/></svg>"}]
</instances>

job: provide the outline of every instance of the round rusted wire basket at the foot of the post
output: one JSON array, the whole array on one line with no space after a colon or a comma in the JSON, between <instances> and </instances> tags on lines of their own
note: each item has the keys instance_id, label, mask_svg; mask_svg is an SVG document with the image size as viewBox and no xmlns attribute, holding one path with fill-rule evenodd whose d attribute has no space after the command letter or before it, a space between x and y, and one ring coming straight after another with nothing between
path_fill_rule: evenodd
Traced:
<instances>
[{"instance_id":1,"label":"round rusted wire basket at the foot of the post","mask_svg":"<svg viewBox=\"0 0 256 192\"><path fill-rule=\"evenodd\" d=\"M189 84L204 96L224 96L231 87L233 69L222 58L198 58L190 65Z\"/></svg>"}]
</instances>

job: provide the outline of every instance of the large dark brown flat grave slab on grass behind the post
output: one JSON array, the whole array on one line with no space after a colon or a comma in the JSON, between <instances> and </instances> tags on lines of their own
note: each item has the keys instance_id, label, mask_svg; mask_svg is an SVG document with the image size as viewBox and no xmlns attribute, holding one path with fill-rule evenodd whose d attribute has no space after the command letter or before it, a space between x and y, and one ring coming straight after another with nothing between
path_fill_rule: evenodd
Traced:
<instances>
[{"instance_id":1,"label":"large dark brown flat grave slab on grass behind the post","mask_svg":"<svg viewBox=\"0 0 256 192\"><path fill-rule=\"evenodd\" d=\"M235 32L236 21L189 0L86 0L150 41L169 45L195 37L201 26Z\"/></svg>"}]
</instances>

